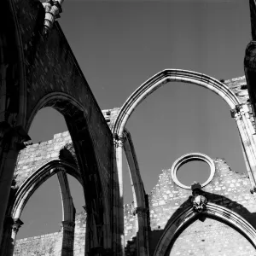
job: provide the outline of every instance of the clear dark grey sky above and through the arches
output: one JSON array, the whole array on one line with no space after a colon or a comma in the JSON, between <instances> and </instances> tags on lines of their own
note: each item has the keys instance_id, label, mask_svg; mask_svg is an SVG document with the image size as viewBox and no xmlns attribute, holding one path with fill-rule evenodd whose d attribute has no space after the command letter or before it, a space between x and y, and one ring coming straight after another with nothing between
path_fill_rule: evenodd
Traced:
<instances>
[{"instance_id":1,"label":"clear dark grey sky above and through the arches","mask_svg":"<svg viewBox=\"0 0 256 256\"><path fill-rule=\"evenodd\" d=\"M165 68L216 79L244 75L243 57L251 40L248 1L120 2L66 0L59 20L100 108L120 107L140 84ZM162 169L189 152L223 157L233 170L246 171L229 107L212 91L194 84L169 83L156 90L132 114L127 128L147 193ZM67 131L61 114L44 108L34 119L30 136L37 143L61 131ZM207 168L188 164L178 177L183 183L203 182ZM124 179L125 203L130 203L126 168ZM84 198L74 178L71 189L79 212ZM18 238L59 230L56 177L35 192L21 220L25 224Z\"/></svg>"}]
</instances>

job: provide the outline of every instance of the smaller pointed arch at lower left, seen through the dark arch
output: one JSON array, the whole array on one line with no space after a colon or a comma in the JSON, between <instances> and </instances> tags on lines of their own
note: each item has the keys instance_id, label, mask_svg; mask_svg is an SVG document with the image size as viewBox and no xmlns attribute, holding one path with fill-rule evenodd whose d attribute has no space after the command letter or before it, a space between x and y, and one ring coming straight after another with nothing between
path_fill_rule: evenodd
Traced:
<instances>
[{"instance_id":1,"label":"smaller pointed arch at lower left, seen through the dark arch","mask_svg":"<svg viewBox=\"0 0 256 256\"><path fill-rule=\"evenodd\" d=\"M56 174L61 189L62 202L61 255L72 255L74 242L75 208L73 206L73 199L69 189L67 173L75 177L79 183L82 183L76 166L70 165L64 160L52 160L39 168L38 171L33 172L32 175L27 177L26 181L22 183L20 188L17 190L13 200L12 209L10 209L9 214L9 216L11 216L11 218L15 221L20 221L20 215L33 193L50 177ZM7 232L8 231L9 230L7 230ZM17 231L18 229L16 231L12 231L12 239L10 239L11 244L5 244L5 247L7 247L10 255L12 255L15 247ZM5 243L8 243L8 241L5 241Z\"/></svg>"}]
</instances>

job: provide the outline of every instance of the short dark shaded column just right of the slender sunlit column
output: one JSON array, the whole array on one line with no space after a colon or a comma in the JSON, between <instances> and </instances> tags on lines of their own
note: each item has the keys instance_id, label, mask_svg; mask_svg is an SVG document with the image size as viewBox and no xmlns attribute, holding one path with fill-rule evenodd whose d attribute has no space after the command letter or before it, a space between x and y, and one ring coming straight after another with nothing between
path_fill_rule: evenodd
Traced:
<instances>
[{"instance_id":1,"label":"short dark shaded column just right of the slender sunlit column","mask_svg":"<svg viewBox=\"0 0 256 256\"><path fill-rule=\"evenodd\" d=\"M136 208L138 231L137 231L137 255L147 256L148 252L148 209L143 207Z\"/></svg>"}]
</instances>

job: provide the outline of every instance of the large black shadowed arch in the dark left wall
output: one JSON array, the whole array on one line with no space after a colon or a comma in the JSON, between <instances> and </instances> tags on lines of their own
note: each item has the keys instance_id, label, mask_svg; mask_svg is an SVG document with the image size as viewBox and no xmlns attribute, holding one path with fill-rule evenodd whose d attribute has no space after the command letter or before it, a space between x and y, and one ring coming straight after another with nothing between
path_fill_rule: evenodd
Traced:
<instances>
[{"instance_id":1,"label":"large black shadowed arch in the dark left wall","mask_svg":"<svg viewBox=\"0 0 256 256\"><path fill-rule=\"evenodd\" d=\"M76 160L81 173L81 182L84 188L85 205L88 222L88 250L90 247L103 247L111 241L110 232L110 209L108 193L103 188L108 188L107 180L103 177L102 161L96 150L96 142L92 127L90 127L90 110L63 92L53 92L42 97L27 119L26 131L32 124L32 119L38 110L44 107L55 108L65 118L67 128L73 141ZM108 236L107 236L108 234Z\"/></svg>"}]
</instances>

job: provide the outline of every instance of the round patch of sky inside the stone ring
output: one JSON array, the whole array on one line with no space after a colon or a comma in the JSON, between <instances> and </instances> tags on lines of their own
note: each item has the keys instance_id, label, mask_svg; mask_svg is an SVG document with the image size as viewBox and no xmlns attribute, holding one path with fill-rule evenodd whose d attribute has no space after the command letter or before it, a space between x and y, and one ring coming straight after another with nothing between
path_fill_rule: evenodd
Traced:
<instances>
[{"instance_id":1,"label":"round patch of sky inside the stone ring","mask_svg":"<svg viewBox=\"0 0 256 256\"><path fill-rule=\"evenodd\" d=\"M177 180L185 186L192 183L206 183L211 175L210 166L203 160L190 160L177 169Z\"/></svg>"}]
</instances>

